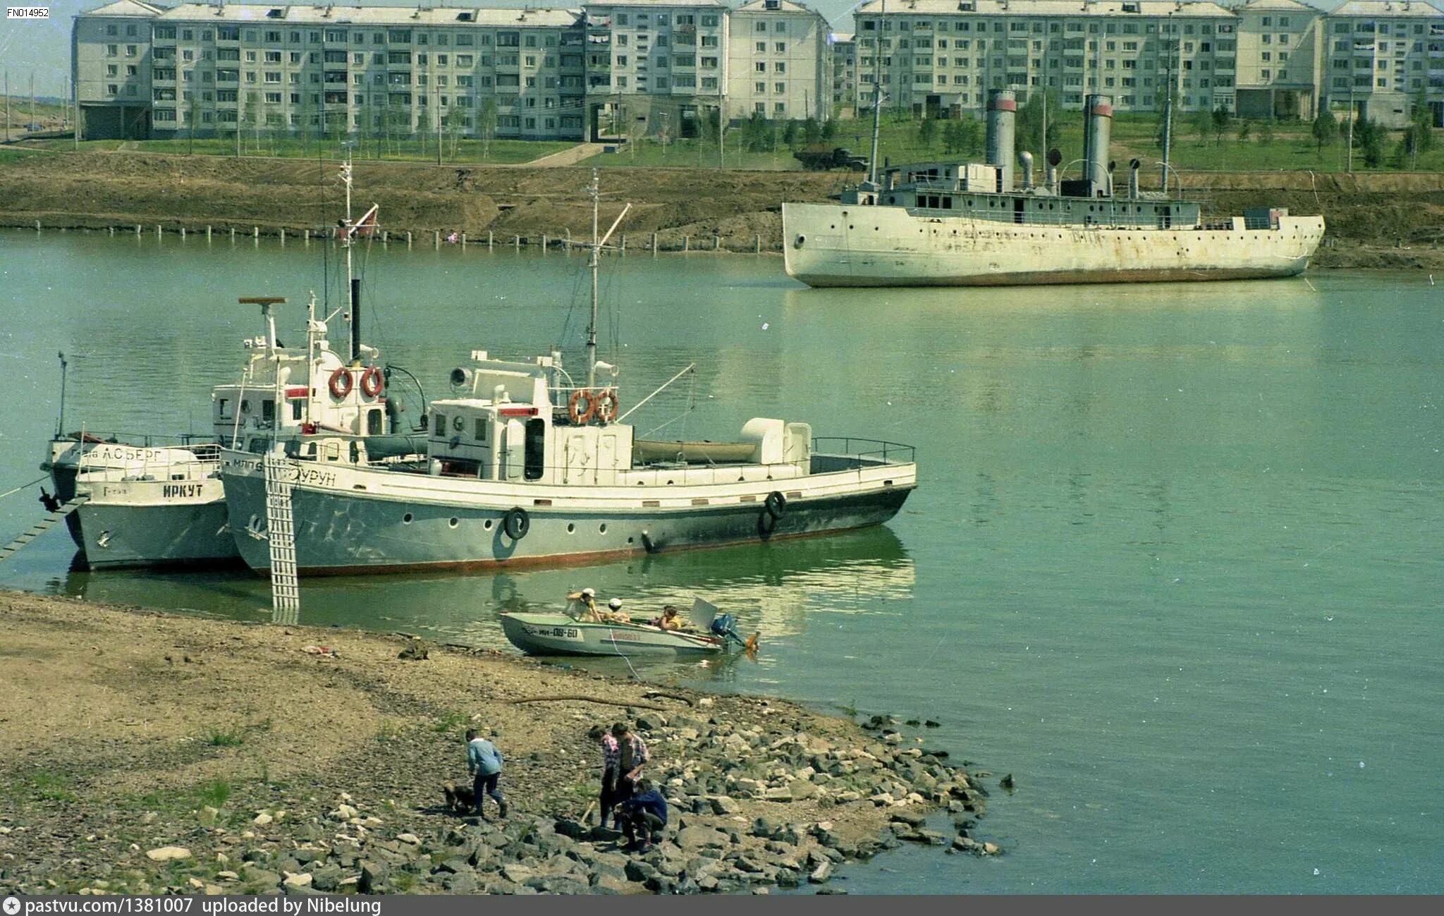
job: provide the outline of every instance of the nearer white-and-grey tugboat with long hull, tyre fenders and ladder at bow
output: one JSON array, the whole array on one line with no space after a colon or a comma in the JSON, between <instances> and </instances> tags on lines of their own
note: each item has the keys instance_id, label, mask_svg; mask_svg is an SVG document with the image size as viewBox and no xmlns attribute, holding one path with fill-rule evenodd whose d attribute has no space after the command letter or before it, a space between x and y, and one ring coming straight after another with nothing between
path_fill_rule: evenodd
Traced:
<instances>
[{"instance_id":1,"label":"nearer white-and-grey tugboat with long hull, tyre fenders and ladder at bow","mask_svg":"<svg viewBox=\"0 0 1444 916\"><path fill-rule=\"evenodd\" d=\"M593 225L596 185L592 185ZM615 230L615 225L612 227ZM645 444L598 381L596 263L585 381L559 353L531 361L474 351L455 397L429 407L426 459L292 459L302 575L559 563L823 535L891 519L917 485L913 449L819 439L807 423L758 418L731 444ZM708 444L715 445L715 444ZM231 532L256 571L270 563L257 455L222 451Z\"/></svg>"}]
</instances>

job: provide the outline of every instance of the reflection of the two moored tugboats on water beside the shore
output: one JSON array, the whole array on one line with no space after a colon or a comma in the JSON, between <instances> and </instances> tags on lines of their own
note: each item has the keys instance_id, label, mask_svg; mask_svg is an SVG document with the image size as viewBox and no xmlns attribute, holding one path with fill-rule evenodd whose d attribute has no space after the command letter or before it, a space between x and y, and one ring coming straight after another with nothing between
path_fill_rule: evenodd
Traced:
<instances>
[{"instance_id":1,"label":"reflection of the two moored tugboats on water beside the shore","mask_svg":"<svg viewBox=\"0 0 1444 916\"><path fill-rule=\"evenodd\" d=\"M404 631L440 643L514 652L501 633L501 611L559 610L563 595L591 587L604 600L621 598L634 618L654 617L664 604L705 598L736 614L738 630L762 633L757 663L767 667L777 663L780 649L806 636L809 620L897 614L901 604L911 601L915 581L913 561L897 535L875 527L832 537L643 553L625 562L559 569L306 578L299 615L279 623ZM58 585L58 591L97 601L273 620L270 584L248 572L87 572L72 566ZM621 660L575 663L627 672ZM715 665L658 667L648 662L648 676L669 673L667 667L699 676Z\"/></svg>"}]
</instances>

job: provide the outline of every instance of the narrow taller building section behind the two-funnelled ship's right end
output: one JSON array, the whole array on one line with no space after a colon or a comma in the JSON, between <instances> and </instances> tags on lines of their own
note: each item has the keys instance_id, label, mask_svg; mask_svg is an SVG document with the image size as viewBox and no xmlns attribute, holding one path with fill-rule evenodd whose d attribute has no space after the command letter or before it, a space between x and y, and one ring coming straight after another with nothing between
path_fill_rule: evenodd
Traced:
<instances>
[{"instance_id":1,"label":"narrow taller building section behind the two-funnelled ship's right end","mask_svg":"<svg viewBox=\"0 0 1444 916\"><path fill-rule=\"evenodd\" d=\"M1238 16L1238 116L1313 118L1323 65L1323 10L1298 0L1249 0Z\"/></svg>"}]
</instances>

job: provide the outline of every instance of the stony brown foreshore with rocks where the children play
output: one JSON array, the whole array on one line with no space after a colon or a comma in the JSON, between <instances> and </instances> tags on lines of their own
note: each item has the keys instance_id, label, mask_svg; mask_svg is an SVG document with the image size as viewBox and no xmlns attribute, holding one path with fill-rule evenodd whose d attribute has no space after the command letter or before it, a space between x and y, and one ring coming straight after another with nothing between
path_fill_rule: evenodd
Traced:
<instances>
[{"instance_id":1,"label":"stony brown foreshore with rocks where the children play","mask_svg":"<svg viewBox=\"0 0 1444 916\"><path fill-rule=\"evenodd\" d=\"M1001 852L988 774L915 721L17 592L0 624L3 890L836 893L839 865L904 842ZM588 731L617 718L669 800L647 854L593 826ZM505 754L504 821L443 805L468 725Z\"/></svg>"}]
</instances>

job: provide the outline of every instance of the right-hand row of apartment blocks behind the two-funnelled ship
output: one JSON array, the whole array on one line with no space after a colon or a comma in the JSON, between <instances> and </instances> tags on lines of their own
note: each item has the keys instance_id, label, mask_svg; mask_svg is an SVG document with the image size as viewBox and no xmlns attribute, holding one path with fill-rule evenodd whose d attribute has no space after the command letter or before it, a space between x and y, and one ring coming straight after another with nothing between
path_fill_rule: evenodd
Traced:
<instances>
[{"instance_id":1,"label":"right-hand row of apartment blocks behind the two-funnelled ship","mask_svg":"<svg viewBox=\"0 0 1444 916\"><path fill-rule=\"evenodd\" d=\"M989 88L1155 111L1171 87L1184 111L1311 118L1352 98L1388 126L1422 97L1444 126L1444 12L1421 0L871 0L853 19L859 111L878 85L924 116L979 110Z\"/></svg>"}]
</instances>

